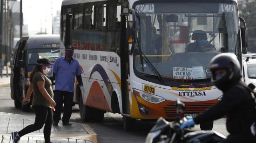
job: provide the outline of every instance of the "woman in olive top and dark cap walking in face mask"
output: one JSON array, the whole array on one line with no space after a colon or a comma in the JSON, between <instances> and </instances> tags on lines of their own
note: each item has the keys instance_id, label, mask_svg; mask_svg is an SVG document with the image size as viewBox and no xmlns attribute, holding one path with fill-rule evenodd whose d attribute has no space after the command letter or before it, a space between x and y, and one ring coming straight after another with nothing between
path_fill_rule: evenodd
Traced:
<instances>
[{"instance_id":1,"label":"woman in olive top and dark cap walking in face mask","mask_svg":"<svg viewBox=\"0 0 256 143\"><path fill-rule=\"evenodd\" d=\"M27 96L23 103L29 103L29 98L34 91L32 107L35 111L34 124L28 125L19 132L12 132L13 143L18 143L21 136L40 130L44 126L45 143L51 143L50 136L53 124L52 107L56 106L53 99L53 90L51 80L46 74L51 71L52 64L47 58L39 58L29 77L30 85L27 90Z\"/></svg>"}]
</instances>

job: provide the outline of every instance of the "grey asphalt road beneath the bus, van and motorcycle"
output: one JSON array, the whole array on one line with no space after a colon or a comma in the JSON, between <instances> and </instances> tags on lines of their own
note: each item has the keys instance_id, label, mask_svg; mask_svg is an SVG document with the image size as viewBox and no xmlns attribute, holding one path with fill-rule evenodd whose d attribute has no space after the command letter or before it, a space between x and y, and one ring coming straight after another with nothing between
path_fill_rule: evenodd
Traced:
<instances>
[{"instance_id":1,"label":"grey asphalt road beneath the bus, van and motorcycle","mask_svg":"<svg viewBox=\"0 0 256 143\"><path fill-rule=\"evenodd\" d=\"M22 112L14 107L14 101L10 97L10 87L0 87L0 112L34 116L34 112ZM148 131L155 123L138 121L134 131L124 131L122 116L120 114L106 113L104 120L100 123L87 122L97 133L99 143L144 143ZM71 122L81 123L78 106L73 107ZM195 126L191 130L200 130ZM214 129L223 135L228 135L225 127L225 119L214 122Z\"/></svg>"}]
</instances>

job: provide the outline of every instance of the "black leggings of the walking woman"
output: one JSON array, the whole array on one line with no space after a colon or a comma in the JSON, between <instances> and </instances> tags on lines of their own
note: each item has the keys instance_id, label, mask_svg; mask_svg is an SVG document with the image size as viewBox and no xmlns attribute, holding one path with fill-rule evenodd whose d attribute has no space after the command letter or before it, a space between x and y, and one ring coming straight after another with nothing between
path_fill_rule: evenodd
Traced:
<instances>
[{"instance_id":1,"label":"black leggings of the walking woman","mask_svg":"<svg viewBox=\"0 0 256 143\"><path fill-rule=\"evenodd\" d=\"M40 130L44 126L45 143L51 143L51 130L53 124L53 111L51 108L43 105L34 105L35 121L34 124L28 125L18 132L19 136L24 136L36 130Z\"/></svg>"}]
</instances>

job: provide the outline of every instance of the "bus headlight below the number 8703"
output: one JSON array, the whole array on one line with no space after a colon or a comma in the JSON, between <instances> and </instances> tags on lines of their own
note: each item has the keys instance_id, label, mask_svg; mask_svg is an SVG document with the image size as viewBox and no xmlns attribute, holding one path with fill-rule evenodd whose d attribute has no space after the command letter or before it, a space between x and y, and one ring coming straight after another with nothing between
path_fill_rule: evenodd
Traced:
<instances>
[{"instance_id":1,"label":"bus headlight below the number 8703","mask_svg":"<svg viewBox=\"0 0 256 143\"><path fill-rule=\"evenodd\" d=\"M150 94L147 92L143 92L143 91L137 90L135 88L133 88L133 91L136 96L139 96L142 99L144 99L145 101L153 103L153 104L158 104L158 103L161 103L166 100L163 97L156 96L156 95L153 95L153 94Z\"/></svg>"}]
</instances>

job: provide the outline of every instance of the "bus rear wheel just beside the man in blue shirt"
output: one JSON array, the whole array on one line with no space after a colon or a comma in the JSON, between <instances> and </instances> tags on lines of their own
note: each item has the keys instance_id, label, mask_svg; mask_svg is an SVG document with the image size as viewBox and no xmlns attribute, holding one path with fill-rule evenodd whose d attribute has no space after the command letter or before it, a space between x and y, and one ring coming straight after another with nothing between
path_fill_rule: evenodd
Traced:
<instances>
[{"instance_id":1,"label":"bus rear wheel just beside the man in blue shirt","mask_svg":"<svg viewBox=\"0 0 256 143\"><path fill-rule=\"evenodd\" d=\"M85 121L93 121L93 119L94 119L93 108L88 107L88 106L83 104L83 97L82 96L80 96L79 108L80 108L81 120L83 122L85 122Z\"/></svg>"}]
</instances>

